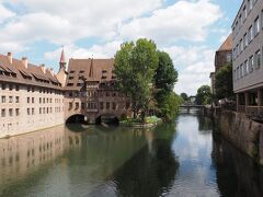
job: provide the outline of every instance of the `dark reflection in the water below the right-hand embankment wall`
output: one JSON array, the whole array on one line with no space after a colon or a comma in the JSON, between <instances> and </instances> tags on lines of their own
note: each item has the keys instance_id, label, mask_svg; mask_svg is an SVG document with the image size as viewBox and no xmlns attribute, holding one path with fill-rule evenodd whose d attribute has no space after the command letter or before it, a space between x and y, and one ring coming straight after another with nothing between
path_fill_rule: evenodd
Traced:
<instances>
[{"instance_id":1,"label":"dark reflection in the water below the right-hand embankment wall","mask_svg":"<svg viewBox=\"0 0 263 197\"><path fill-rule=\"evenodd\" d=\"M250 158L215 134L211 155L222 196L263 196L263 169L256 167Z\"/></svg>"}]
</instances>

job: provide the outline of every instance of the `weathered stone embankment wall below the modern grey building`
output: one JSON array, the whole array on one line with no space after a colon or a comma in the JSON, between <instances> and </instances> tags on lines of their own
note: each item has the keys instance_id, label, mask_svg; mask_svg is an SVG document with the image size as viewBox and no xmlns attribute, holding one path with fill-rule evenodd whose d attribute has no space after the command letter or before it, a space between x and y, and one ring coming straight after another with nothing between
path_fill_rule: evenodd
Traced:
<instances>
[{"instance_id":1,"label":"weathered stone embankment wall below the modern grey building","mask_svg":"<svg viewBox=\"0 0 263 197\"><path fill-rule=\"evenodd\" d=\"M217 111L214 117L222 136L263 165L263 124L230 111Z\"/></svg>"}]
</instances>

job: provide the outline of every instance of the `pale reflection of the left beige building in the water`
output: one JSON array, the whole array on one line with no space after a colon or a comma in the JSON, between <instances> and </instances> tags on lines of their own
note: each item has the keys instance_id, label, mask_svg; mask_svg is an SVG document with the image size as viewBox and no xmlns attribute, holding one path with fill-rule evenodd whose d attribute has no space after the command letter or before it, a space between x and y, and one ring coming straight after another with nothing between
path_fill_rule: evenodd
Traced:
<instances>
[{"instance_id":1,"label":"pale reflection of the left beige building in the water","mask_svg":"<svg viewBox=\"0 0 263 197\"><path fill-rule=\"evenodd\" d=\"M69 144L79 143L78 135L66 132L64 126L0 139L0 186L7 177L21 177L61 155Z\"/></svg>"}]
</instances>

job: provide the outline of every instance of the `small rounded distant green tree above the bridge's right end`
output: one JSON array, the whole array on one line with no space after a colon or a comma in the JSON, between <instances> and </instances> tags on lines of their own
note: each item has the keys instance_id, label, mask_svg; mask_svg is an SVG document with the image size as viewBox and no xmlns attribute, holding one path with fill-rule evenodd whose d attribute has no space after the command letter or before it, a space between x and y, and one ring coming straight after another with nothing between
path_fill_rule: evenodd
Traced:
<instances>
[{"instance_id":1,"label":"small rounded distant green tree above the bridge's right end","mask_svg":"<svg viewBox=\"0 0 263 197\"><path fill-rule=\"evenodd\" d=\"M211 103L211 91L209 85L202 85L197 90L196 103L198 105L207 105Z\"/></svg>"}]
</instances>

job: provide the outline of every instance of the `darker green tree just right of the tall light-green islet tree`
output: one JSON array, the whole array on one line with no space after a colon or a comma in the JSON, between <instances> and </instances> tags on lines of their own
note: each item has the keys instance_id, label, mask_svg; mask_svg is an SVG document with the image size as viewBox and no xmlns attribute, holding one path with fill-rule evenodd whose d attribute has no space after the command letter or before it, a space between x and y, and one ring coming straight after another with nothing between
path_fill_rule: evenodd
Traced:
<instances>
[{"instance_id":1,"label":"darker green tree just right of the tall light-green islet tree","mask_svg":"<svg viewBox=\"0 0 263 197\"><path fill-rule=\"evenodd\" d=\"M167 96L173 91L178 81L178 71L169 54L158 50L159 63L153 77L155 99L158 107L161 107Z\"/></svg>"}]
</instances>

